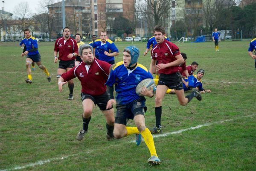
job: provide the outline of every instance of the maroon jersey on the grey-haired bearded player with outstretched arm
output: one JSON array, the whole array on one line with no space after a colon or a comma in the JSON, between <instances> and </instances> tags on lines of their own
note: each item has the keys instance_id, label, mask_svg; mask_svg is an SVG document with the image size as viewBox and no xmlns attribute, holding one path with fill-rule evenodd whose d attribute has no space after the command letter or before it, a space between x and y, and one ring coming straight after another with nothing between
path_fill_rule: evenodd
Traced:
<instances>
[{"instance_id":1,"label":"maroon jersey on the grey-haired bearded player with outstretched arm","mask_svg":"<svg viewBox=\"0 0 256 171\"><path fill-rule=\"evenodd\" d=\"M61 77L64 78L64 81L69 81L77 77L81 81L82 93L99 96L106 91L105 82L108 80L110 67L111 64L94 58L88 72L86 70L88 66L84 62L81 62L76 67L62 74Z\"/></svg>"}]
</instances>

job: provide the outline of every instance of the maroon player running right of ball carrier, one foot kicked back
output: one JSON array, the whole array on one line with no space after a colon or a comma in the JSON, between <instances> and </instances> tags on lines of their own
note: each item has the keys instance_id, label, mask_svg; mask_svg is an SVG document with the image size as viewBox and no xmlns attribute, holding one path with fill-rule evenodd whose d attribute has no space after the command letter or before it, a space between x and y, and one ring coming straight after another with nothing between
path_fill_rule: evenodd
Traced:
<instances>
[{"instance_id":1,"label":"maroon player running right of ball carrier, one foot kicked back","mask_svg":"<svg viewBox=\"0 0 256 171\"><path fill-rule=\"evenodd\" d=\"M194 90L188 96L184 96L182 76L179 72L179 65L184 63L184 59L180 54L180 49L173 43L166 41L165 30L162 26L155 26L154 36L157 45L151 50L151 64L154 65L158 61L156 69L159 73L159 81L157 84L155 97L155 117L156 126L151 130L151 133L161 133L161 115L162 101L168 88L175 89L175 93L180 105L185 106L196 97L201 100L201 94L198 90ZM150 70L152 73L152 70Z\"/></svg>"}]
</instances>

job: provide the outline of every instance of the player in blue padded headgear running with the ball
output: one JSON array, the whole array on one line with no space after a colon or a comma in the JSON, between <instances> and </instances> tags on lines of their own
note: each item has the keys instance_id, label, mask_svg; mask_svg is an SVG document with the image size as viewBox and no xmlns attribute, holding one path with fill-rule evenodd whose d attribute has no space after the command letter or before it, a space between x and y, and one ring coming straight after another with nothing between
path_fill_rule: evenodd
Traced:
<instances>
[{"instance_id":1,"label":"player in blue padded headgear running with the ball","mask_svg":"<svg viewBox=\"0 0 256 171\"><path fill-rule=\"evenodd\" d=\"M107 108L116 104L114 136L120 139L136 134L137 145L140 145L143 136L151 154L148 163L159 165L161 161L157 157L153 136L145 126L146 99L143 96L153 97L154 93L152 89L148 90L145 87L141 91L143 96L138 96L135 91L140 81L153 78L146 67L137 63L139 55L140 51L136 46L127 46L123 52L123 61L112 65L108 81L105 83L110 97ZM113 85L115 85L116 100L113 97ZM126 126L129 119L134 119L136 127Z\"/></svg>"}]
</instances>

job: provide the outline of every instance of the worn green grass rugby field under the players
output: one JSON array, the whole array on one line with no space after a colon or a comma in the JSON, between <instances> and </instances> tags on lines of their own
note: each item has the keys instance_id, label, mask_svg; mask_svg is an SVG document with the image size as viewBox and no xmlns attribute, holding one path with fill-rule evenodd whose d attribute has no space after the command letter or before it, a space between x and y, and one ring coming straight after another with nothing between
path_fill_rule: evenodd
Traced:
<instances>
[{"instance_id":1,"label":"worn green grass rugby field under the players","mask_svg":"<svg viewBox=\"0 0 256 171\"><path fill-rule=\"evenodd\" d=\"M122 49L130 45L118 42ZM145 50L145 43L134 43ZM151 167L143 142L135 136L108 141L105 119L93 112L89 131L81 142L81 85L75 81L74 100L68 87L58 92L55 81L54 43L39 43L42 63L52 75L47 81L38 67L32 84L26 84L25 58L18 43L0 43L0 171L255 171L256 169L256 77L254 61L247 54L249 41L224 41L215 52L214 43L179 43L187 64L205 70L202 94L180 106L175 95L163 101L163 133L154 136L162 165ZM150 55L139 62L149 68ZM154 98L147 98L145 122L154 127ZM134 126L133 121L128 122Z\"/></svg>"}]
</instances>

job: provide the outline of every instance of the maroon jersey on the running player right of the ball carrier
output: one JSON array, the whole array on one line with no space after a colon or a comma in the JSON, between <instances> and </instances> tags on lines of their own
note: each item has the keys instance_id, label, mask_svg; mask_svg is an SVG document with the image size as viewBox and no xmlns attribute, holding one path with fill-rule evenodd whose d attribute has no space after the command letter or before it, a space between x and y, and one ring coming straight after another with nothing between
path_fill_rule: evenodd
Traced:
<instances>
[{"instance_id":1,"label":"maroon jersey on the running player right of the ball carrier","mask_svg":"<svg viewBox=\"0 0 256 171\"><path fill-rule=\"evenodd\" d=\"M166 39L161 44L156 44L153 49L151 49L151 58L157 60L158 64L168 64L177 60L175 56L180 55L180 49L173 43L166 41ZM159 70L160 74L172 74L180 70L179 66L168 67Z\"/></svg>"}]
</instances>

